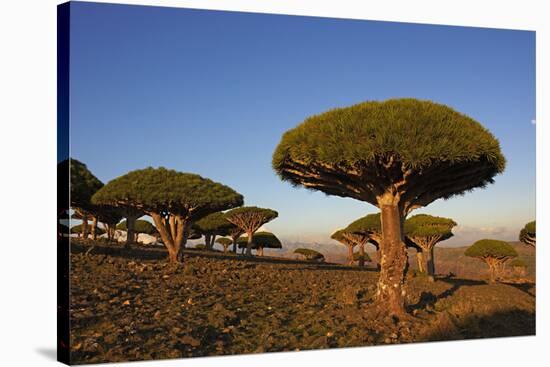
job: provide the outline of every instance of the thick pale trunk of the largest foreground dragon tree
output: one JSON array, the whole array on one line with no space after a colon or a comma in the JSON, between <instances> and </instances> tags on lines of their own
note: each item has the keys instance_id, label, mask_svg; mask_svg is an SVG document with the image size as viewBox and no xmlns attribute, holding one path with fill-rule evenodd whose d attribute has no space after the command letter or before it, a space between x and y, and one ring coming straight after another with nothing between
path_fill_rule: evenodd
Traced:
<instances>
[{"instance_id":1,"label":"thick pale trunk of the largest foreground dragon tree","mask_svg":"<svg viewBox=\"0 0 550 367\"><path fill-rule=\"evenodd\" d=\"M402 234L404 216L398 205L393 202L382 202L380 210L383 239L380 243L382 256L377 303L390 315L404 316L406 315L404 283L407 265L407 250Z\"/></svg>"}]
</instances>

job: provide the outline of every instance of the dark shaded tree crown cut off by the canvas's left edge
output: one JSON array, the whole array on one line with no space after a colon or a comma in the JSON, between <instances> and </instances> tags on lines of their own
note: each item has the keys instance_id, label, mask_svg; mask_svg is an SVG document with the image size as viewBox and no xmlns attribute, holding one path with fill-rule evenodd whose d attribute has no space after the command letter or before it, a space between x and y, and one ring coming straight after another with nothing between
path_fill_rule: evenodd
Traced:
<instances>
[{"instance_id":1,"label":"dark shaded tree crown cut off by the canvas's left edge","mask_svg":"<svg viewBox=\"0 0 550 367\"><path fill-rule=\"evenodd\" d=\"M92 195L103 187L103 183L88 170L84 163L76 159L71 158L61 162L60 165L63 166L62 169L70 169L71 206L88 209Z\"/></svg>"}]
</instances>

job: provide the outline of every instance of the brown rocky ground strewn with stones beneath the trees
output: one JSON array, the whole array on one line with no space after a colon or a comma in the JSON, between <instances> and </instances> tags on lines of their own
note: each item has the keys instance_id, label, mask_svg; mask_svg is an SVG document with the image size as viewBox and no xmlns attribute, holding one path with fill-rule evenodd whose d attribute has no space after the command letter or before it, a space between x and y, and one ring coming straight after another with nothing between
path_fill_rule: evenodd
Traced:
<instances>
[{"instance_id":1,"label":"brown rocky ground strewn with stones beneath the trees","mask_svg":"<svg viewBox=\"0 0 550 367\"><path fill-rule=\"evenodd\" d=\"M411 277L408 321L369 308L377 273L188 250L73 244L73 363L535 334L535 286Z\"/></svg>"}]
</instances>

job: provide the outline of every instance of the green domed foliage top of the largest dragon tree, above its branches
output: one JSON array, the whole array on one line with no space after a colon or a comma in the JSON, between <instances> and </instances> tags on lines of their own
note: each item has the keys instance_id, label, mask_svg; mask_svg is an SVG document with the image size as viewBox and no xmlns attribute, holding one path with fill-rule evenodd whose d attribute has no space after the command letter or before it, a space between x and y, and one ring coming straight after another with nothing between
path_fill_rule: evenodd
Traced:
<instances>
[{"instance_id":1,"label":"green domed foliage top of the largest dragon tree, above its branches","mask_svg":"<svg viewBox=\"0 0 550 367\"><path fill-rule=\"evenodd\" d=\"M287 159L354 166L388 152L399 153L406 166L415 168L480 157L499 172L505 164L498 141L477 121L445 105L409 98L369 101L309 117L283 135L273 166L278 171Z\"/></svg>"}]
</instances>

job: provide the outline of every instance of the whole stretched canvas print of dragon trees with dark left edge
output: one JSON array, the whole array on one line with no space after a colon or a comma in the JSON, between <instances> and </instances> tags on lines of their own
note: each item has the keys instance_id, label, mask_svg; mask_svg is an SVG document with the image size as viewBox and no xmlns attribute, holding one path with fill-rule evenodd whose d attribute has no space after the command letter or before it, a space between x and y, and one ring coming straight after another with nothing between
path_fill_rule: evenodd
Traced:
<instances>
[{"instance_id":1,"label":"whole stretched canvas print of dragon trees with dark left edge","mask_svg":"<svg viewBox=\"0 0 550 367\"><path fill-rule=\"evenodd\" d=\"M67 364L535 334L535 32L58 7Z\"/></svg>"}]
</instances>

